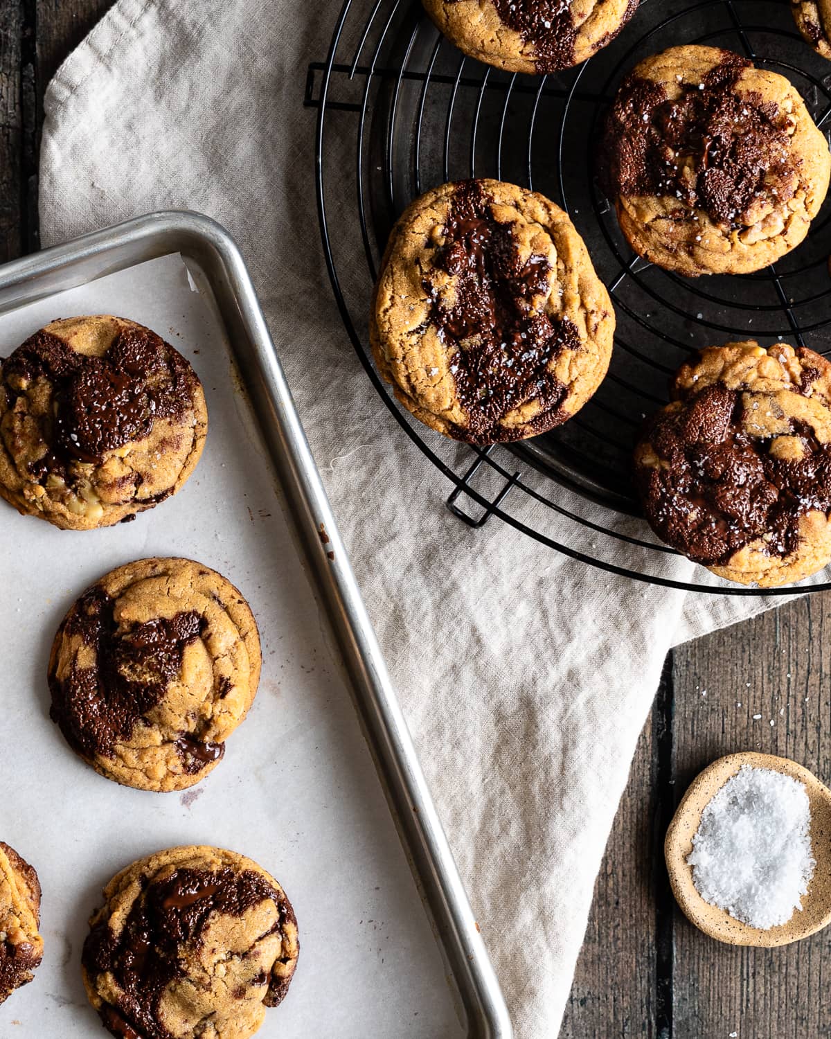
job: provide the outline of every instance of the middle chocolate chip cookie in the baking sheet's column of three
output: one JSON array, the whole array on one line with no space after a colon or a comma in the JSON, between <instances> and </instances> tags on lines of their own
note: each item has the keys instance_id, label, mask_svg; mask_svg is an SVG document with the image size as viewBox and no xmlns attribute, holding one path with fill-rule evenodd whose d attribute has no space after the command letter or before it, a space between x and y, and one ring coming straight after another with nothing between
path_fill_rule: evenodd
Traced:
<instances>
[{"instance_id":1,"label":"middle chocolate chip cookie in the baking sheet's column of three","mask_svg":"<svg viewBox=\"0 0 831 1039\"><path fill-rule=\"evenodd\" d=\"M108 779L183 790L222 757L261 663L257 623L234 585L189 559L141 559L66 614L49 661L51 716Z\"/></svg>"}]
</instances>

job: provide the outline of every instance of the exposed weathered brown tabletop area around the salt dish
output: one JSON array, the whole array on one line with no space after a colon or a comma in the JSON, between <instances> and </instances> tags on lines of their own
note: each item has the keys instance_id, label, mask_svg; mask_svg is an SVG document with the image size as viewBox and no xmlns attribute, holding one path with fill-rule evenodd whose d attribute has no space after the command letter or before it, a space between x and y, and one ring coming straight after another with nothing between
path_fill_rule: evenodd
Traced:
<instances>
[{"instance_id":1,"label":"exposed weathered brown tabletop area around the salt dish","mask_svg":"<svg viewBox=\"0 0 831 1039\"><path fill-rule=\"evenodd\" d=\"M825 986L831 929L774 950L713 941L666 900L661 857L668 814L717 757L759 750L831 779L831 739L824 736L831 721L831 594L789 603L672 656L671 695L656 702L638 745L562 1039L831 1036ZM670 767L655 789L662 719L671 724L670 746L665 742L663 750ZM651 834L644 821L649 814ZM644 854L651 869L643 864Z\"/></svg>"}]
</instances>

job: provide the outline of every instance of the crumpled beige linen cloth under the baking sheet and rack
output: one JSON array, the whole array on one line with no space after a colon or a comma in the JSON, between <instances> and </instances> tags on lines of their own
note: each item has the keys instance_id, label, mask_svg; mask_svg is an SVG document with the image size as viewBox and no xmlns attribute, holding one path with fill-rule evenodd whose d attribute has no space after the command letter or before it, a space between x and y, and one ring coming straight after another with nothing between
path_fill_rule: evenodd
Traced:
<instances>
[{"instance_id":1,"label":"crumpled beige linen cloth under the baking sheet and rack","mask_svg":"<svg viewBox=\"0 0 831 1039\"><path fill-rule=\"evenodd\" d=\"M47 91L43 241L172 208L235 236L516 1035L554 1037L667 649L770 601L612 578L444 507L450 485L359 368L320 254L302 91L340 6L119 0Z\"/></svg>"}]
</instances>

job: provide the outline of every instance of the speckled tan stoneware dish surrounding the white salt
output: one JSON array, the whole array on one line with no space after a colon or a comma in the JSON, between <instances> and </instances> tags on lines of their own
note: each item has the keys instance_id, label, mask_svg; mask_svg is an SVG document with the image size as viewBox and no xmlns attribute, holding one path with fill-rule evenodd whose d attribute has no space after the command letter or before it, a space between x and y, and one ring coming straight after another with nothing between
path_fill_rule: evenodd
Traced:
<instances>
[{"instance_id":1,"label":"speckled tan stoneware dish surrounding the white salt","mask_svg":"<svg viewBox=\"0 0 831 1039\"><path fill-rule=\"evenodd\" d=\"M693 868L687 857L693 850L701 812L719 790L743 765L781 772L805 783L810 804L810 837L816 868L802 898L802 910L794 910L786 924L760 930L734 920L728 912L705 902L693 884ZM664 854L672 893L687 917L704 934L731 945L786 945L822 930L831 923L831 790L787 757L745 751L720 757L704 769L683 795L667 830Z\"/></svg>"}]
</instances>

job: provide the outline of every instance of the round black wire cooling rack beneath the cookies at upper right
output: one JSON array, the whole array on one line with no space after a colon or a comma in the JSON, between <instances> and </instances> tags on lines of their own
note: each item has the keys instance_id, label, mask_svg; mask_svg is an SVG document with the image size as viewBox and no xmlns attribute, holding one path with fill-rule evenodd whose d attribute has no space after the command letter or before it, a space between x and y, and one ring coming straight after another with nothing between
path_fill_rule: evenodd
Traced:
<instances>
[{"instance_id":1,"label":"round black wire cooling rack beneath the cookies at upper right","mask_svg":"<svg viewBox=\"0 0 831 1039\"><path fill-rule=\"evenodd\" d=\"M597 188L595 142L618 82L641 58L682 43L725 47L786 76L817 125L831 126L831 62L802 41L786 0L642 0L609 47L544 77L464 57L420 0L345 0L305 92L306 106L318 109L318 205L332 289L375 389L454 485L448 505L470 526L495 516L573 559L672 588L731 595L831 588L819 580L778 589L719 581L660 543L633 498L641 420L666 402L669 377L695 350L756 339L831 353L831 203L775 266L696 279L635 256ZM395 401L369 350L370 295L396 217L423 191L466 177L511 181L562 206L617 315L610 371L592 400L559 429L509 447L454 445L422 426Z\"/></svg>"}]
</instances>

